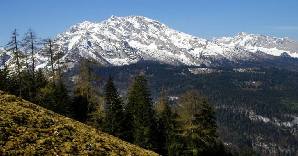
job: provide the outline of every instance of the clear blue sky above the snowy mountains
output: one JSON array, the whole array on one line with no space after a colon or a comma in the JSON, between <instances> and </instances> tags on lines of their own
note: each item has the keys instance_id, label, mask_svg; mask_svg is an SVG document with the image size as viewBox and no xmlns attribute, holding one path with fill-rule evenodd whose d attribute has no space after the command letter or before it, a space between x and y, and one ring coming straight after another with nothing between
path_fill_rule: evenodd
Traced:
<instances>
[{"instance_id":1,"label":"clear blue sky above the snowy mountains","mask_svg":"<svg viewBox=\"0 0 298 156\"><path fill-rule=\"evenodd\" d=\"M173 29L211 40L239 31L298 41L298 1L274 0L1 0L0 45L18 29L52 37L83 21L100 23L111 15L141 15Z\"/></svg>"}]
</instances>

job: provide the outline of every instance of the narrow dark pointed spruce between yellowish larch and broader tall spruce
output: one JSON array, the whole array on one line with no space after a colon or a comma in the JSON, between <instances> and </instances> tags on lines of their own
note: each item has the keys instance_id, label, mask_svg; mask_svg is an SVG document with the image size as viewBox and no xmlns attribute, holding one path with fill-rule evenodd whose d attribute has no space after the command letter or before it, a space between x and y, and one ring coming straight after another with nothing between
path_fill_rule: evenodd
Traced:
<instances>
[{"instance_id":1,"label":"narrow dark pointed spruce between yellowish larch and broader tall spruce","mask_svg":"<svg viewBox=\"0 0 298 156\"><path fill-rule=\"evenodd\" d=\"M105 85L106 120L105 132L118 138L123 138L124 109L121 97L117 92L114 81L109 75Z\"/></svg>"}]
</instances>

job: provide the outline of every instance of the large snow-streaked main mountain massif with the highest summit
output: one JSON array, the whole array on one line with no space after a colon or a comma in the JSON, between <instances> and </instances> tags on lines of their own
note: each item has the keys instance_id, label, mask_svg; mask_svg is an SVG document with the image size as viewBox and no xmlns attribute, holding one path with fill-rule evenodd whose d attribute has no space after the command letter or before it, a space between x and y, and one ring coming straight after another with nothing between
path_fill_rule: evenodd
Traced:
<instances>
[{"instance_id":1,"label":"large snow-streaked main mountain massif with the highest summit","mask_svg":"<svg viewBox=\"0 0 298 156\"><path fill-rule=\"evenodd\" d=\"M78 62L94 58L104 65L124 65L140 60L166 64L201 65L226 59L232 62L257 60L254 53L226 47L185 34L142 16L111 16L101 23L71 26L55 37L63 51L63 59ZM40 67L48 58L41 48Z\"/></svg>"}]
</instances>

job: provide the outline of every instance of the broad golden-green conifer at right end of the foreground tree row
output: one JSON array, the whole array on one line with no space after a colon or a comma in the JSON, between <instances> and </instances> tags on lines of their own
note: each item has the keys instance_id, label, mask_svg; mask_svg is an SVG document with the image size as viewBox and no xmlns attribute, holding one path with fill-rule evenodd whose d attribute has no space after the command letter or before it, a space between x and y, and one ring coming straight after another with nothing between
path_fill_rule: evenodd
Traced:
<instances>
[{"instance_id":1,"label":"broad golden-green conifer at right end of the foreground tree row","mask_svg":"<svg viewBox=\"0 0 298 156\"><path fill-rule=\"evenodd\" d=\"M187 155L201 155L214 146L216 136L215 112L198 91L190 90L180 97L179 135L187 144Z\"/></svg>"}]
</instances>

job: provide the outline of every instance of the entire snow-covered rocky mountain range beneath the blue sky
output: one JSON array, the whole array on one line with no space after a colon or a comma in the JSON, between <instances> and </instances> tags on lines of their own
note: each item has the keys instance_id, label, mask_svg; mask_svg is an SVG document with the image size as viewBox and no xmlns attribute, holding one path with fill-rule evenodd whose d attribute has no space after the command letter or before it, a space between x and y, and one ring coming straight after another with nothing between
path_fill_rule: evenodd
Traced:
<instances>
[{"instance_id":1,"label":"entire snow-covered rocky mountain range beneath the blue sky","mask_svg":"<svg viewBox=\"0 0 298 156\"><path fill-rule=\"evenodd\" d=\"M288 63L284 52L298 57L298 44L289 38L274 38L240 32L234 37L212 41L174 30L143 16L111 16L101 23L84 21L71 26L54 39L69 68L85 58L104 66L119 66L139 61L195 66L297 66ZM36 67L49 68L49 56L41 47L35 56ZM6 61L8 58L5 59Z\"/></svg>"}]
</instances>

